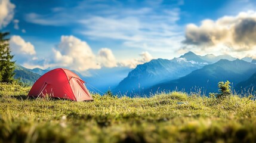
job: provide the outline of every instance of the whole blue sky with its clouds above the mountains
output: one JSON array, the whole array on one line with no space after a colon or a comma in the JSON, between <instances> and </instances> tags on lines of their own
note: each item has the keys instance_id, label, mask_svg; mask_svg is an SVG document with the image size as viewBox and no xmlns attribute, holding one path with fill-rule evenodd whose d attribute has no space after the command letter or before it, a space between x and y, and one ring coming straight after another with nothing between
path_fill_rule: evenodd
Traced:
<instances>
[{"instance_id":1,"label":"whole blue sky with its clouds above the mountains","mask_svg":"<svg viewBox=\"0 0 256 143\"><path fill-rule=\"evenodd\" d=\"M255 6L250 0L0 0L0 30L11 33L15 60L29 68L134 68L187 51L253 57Z\"/></svg>"}]
</instances>

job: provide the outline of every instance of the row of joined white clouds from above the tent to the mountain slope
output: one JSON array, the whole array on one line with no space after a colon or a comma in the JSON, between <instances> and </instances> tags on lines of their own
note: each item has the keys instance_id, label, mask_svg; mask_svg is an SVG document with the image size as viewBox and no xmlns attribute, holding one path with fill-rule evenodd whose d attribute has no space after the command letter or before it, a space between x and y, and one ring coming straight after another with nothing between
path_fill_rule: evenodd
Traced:
<instances>
[{"instance_id":1,"label":"row of joined white clouds from above the tent to the mountain slope","mask_svg":"<svg viewBox=\"0 0 256 143\"><path fill-rule=\"evenodd\" d=\"M142 52L140 58L117 62L115 55L109 48L101 48L95 55L90 46L75 36L61 36L61 42L57 49L53 49L53 57L49 65L63 66L77 71L88 69L100 69L101 67L126 66L135 68L137 64L143 64L152 60L149 52Z\"/></svg>"}]
</instances>

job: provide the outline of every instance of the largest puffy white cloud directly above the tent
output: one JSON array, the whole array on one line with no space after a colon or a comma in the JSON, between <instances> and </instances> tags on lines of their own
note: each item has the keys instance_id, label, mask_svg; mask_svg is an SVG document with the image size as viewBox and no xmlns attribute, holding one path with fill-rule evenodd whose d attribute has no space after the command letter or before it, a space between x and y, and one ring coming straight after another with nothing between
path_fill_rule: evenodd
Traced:
<instances>
[{"instance_id":1,"label":"largest puffy white cloud directly above the tent","mask_svg":"<svg viewBox=\"0 0 256 143\"><path fill-rule=\"evenodd\" d=\"M57 49L53 49L53 62L57 66L70 67L78 71L100 69L96 57L85 41L75 36L61 36Z\"/></svg>"}]
</instances>

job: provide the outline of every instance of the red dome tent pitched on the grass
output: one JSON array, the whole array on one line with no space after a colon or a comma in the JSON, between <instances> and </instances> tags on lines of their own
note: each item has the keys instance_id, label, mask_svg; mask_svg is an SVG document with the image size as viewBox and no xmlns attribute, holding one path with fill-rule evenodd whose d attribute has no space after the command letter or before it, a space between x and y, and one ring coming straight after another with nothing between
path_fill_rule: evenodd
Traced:
<instances>
[{"instance_id":1,"label":"red dome tent pitched on the grass","mask_svg":"<svg viewBox=\"0 0 256 143\"><path fill-rule=\"evenodd\" d=\"M42 75L29 91L29 97L65 98L74 101L93 100L77 74L67 69L54 69Z\"/></svg>"}]
</instances>

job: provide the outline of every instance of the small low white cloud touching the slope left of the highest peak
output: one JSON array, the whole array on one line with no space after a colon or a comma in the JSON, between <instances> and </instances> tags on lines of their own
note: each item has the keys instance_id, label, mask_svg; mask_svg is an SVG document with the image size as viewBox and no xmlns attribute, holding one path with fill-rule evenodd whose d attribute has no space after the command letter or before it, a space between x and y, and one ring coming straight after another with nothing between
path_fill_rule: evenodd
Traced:
<instances>
[{"instance_id":1,"label":"small low white cloud touching the slope left of the highest peak","mask_svg":"<svg viewBox=\"0 0 256 143\"><path fill-rule=\"evenodd\" d=\"M142 52L139 58L124 60L124 61L121 61L119 64L120 66L134 69L138 64L144 64L146 62L149 62L150 60L152 60L152 55L146 51L146 52Z\"/></svg>"}]
</instances>

